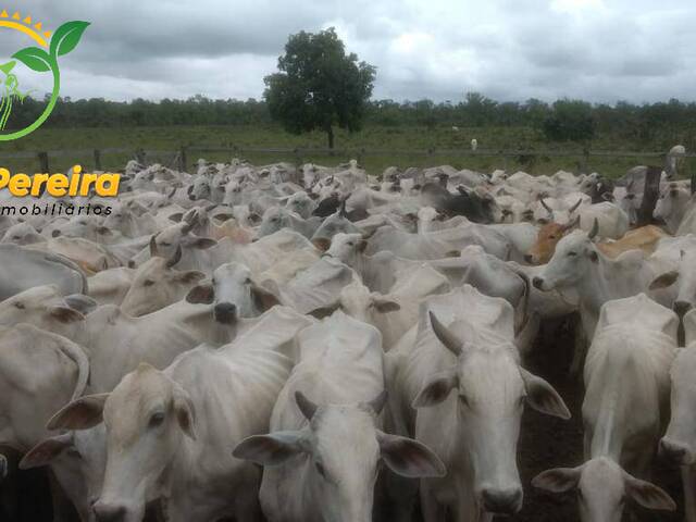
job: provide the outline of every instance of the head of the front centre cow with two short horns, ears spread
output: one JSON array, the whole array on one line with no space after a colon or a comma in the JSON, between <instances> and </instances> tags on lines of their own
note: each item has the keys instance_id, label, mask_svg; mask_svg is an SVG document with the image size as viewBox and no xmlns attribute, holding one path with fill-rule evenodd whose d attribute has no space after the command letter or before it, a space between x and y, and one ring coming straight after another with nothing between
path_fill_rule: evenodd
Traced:
<instances>
[{"instance_id":1,"label":"head of the front centre cow with two short horns, ears spread","mask_svg":"<svg viewBox=\"0 0 696 522\"><path fill-rule=\"evenodd\" d=\"M370 401L341 406L316 405L301 391L296 391L295 399L307 427L248 437L233 455L261 465L291 461L293 467L300 465L297 457L303 456L304 481L322 520L371 520L380 462L407 477L445 474L445 465L427 447L377 428L386 393Z\"/></svg>"}]
</instances>

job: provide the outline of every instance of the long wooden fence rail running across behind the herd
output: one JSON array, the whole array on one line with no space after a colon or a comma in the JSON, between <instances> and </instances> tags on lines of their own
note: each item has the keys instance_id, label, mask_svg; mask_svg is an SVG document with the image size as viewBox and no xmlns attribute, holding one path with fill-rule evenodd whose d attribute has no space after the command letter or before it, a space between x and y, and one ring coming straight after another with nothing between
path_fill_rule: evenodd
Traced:
<instances>
[{"instance_id":1,"label":"long wooden fence rail running across behind the herd","mask_svg":"<svg viewBox=\"0 0 696 522\"><path fill-rule=\"evenodd\" d=\"M613 151L613 150L539 150L539 149L369 149L369 148L290 148L290 147L215 147L215 146L182 146L177 150L163 149L132 149L132 148L102 148L102 149L75 149L75 150L44 150L44 151L20 151L0 153L0 161L3 159L38 159L41 172L50 171L50 158L65 157L92 157L95 169L101 170L101 158L108 154L129 154L142 163L147 163L148 157L171 156L173 158L170 166L177 166L184 171L188 166L188 154L198 153L229 153L233 154L282 154L291 156L300 163L304 157L326 156L326 157L350 157L360 161L361 158L381 156L403 156L403 157L498 157L498 158L580 158L583 164L587 164L589 158L655 158L664 159L664 152L651 151ZM688 152L683 158L696 158L695 152Z\"/></svg>"}]
</instances>

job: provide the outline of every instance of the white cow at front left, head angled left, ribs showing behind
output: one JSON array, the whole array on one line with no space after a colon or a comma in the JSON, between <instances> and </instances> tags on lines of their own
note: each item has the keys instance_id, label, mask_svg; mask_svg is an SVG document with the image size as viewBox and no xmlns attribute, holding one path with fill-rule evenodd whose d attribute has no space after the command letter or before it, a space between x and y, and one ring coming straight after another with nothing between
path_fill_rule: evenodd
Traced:
<instances>
[{"instance_id":1,"label":"white cow at front left, head angled left, ribs showing behind","mask_svg":"<svg viewBox=\"0 0 696 522\"><path fill-rule=\"evenodd\" d=\"M268 431L293 366L277 348L306 324L286 323L273 339L257 328L222 348L203 345L163 371L140 363L110 394L80 398L59 411L51 427L83 430L104 422L107 465L94 505L97 519L139 522L147 502L165 498L172 522L260 520L260 472L234 459L231 447Z\"/></svg>"}]
</instances>

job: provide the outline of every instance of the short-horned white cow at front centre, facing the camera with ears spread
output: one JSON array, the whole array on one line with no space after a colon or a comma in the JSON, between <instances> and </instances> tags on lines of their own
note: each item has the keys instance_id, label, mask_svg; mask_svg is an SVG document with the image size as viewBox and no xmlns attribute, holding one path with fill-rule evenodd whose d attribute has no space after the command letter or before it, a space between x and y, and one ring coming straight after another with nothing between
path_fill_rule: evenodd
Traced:
<instances>
[{"instance_id":1,"label":"short-horned white cow at front centre, facing the camera with ears spread","mask_svg":"<svg viewBox=\"0 0 696 522\"><path fill-rule=\"evenodd\" d=\"M273 409L271 433L234 455L264 467L260 499L269 520L372 520L378 463L409 477L445 467L378 420L386 395L380 333L334 313L299 334L300 360Z\"/></svg>"}]
</instances>

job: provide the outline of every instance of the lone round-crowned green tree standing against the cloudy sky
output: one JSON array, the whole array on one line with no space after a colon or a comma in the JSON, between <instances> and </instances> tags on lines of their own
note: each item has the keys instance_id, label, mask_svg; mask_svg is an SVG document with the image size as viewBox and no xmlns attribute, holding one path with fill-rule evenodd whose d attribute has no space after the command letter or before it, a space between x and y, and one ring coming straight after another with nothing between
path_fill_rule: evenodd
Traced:
<instances>
[{"instance_id":1,"label":"lone round-crowned green tree standing against the cloudy sky","mask_svg":"<svg viewBox=\"0 0 696 522\"><path fill-rule=\"evenodd\" d=\"M376 69L346 54L331 27L318 34L290 35L278 72L263 78L271 117L293 134L326 133L334 148L334 126L360 130L372 96Z\"/></svg>"}]
</instances>

